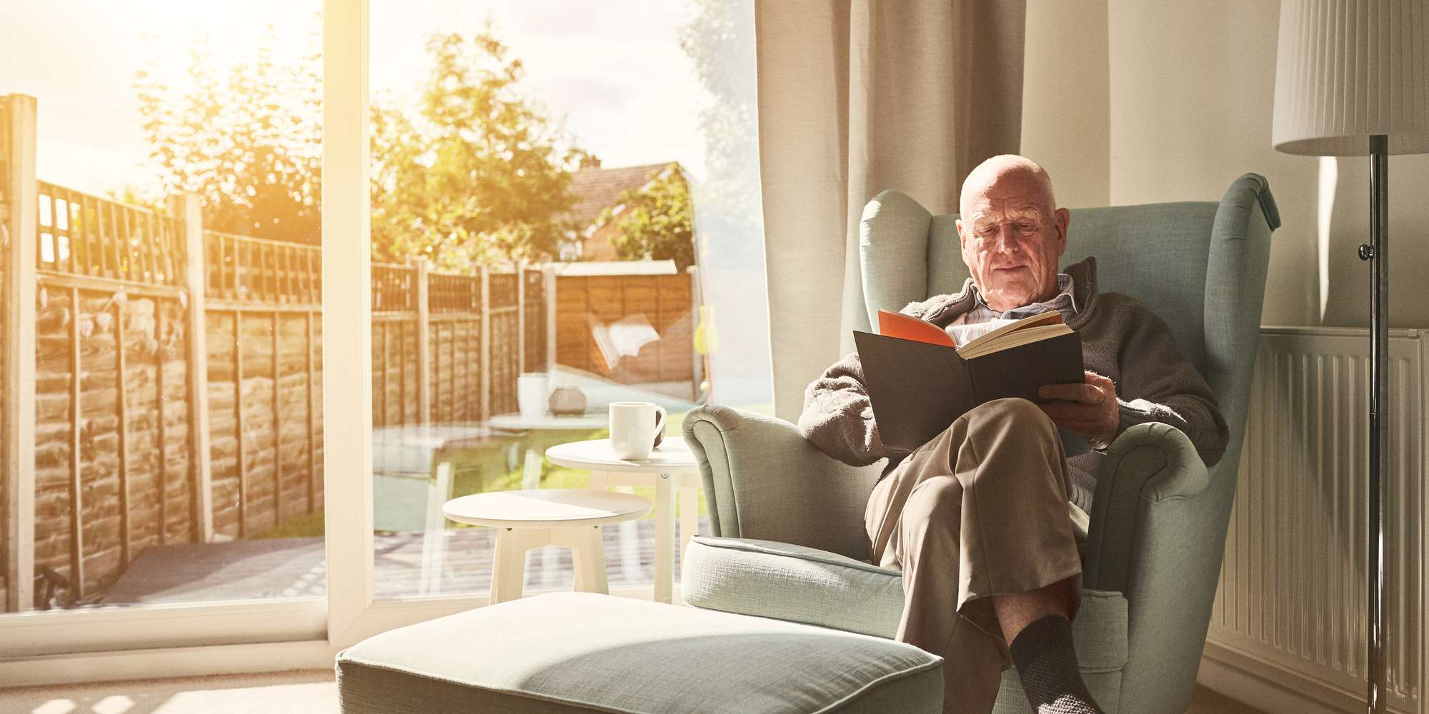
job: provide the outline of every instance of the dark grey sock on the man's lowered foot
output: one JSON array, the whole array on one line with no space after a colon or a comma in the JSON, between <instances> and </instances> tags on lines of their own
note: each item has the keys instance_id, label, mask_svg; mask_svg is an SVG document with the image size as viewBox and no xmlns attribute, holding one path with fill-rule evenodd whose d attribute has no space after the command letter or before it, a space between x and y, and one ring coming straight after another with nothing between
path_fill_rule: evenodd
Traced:
<instances>
[{"instance_id":1,"label":"dark grey sock on the man's lowered foot","mask_svg":"<svg viewBox=\"0 0 1429 714\"><path fill-rule=\"evenodd\" d=\"M1062 615L1046 615L1017 633L1012 644L1012 664L1017 667L1022 688L1037 714L1102 714L1082 683L1072 650L1072 623Z\"/></svg>"}]
</instances>

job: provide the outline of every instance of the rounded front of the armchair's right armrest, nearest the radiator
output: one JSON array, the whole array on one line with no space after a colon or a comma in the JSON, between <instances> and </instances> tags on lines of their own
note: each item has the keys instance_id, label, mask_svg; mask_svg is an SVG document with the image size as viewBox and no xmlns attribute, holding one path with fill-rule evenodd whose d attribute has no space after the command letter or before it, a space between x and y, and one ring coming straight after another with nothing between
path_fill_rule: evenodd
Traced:
<instances>
[{"instance_id":1,"label":"rounded front of the armchair's right armrest, nearest the radiator","mask_svg":"<svg viewBox=\"0 0 1429 714\"><path fill-rule=\"evenodd\" d=\"M1125 593L1133 555L1146 547L1147 514L1195 498L1209 483L1196 447L1176 427L1145 423L1123 431L1096 474L1083 585ZM1195 537L1185 536L1186 547L1196 547Z\"/></svg>"}]
</instances>

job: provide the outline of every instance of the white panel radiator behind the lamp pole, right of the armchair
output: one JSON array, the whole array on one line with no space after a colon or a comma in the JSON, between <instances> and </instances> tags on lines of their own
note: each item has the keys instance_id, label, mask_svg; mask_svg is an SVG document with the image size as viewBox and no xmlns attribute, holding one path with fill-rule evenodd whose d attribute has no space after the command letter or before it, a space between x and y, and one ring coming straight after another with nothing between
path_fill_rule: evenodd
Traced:
<instances>
[{"instance_id":1,"label":"white panel radiator behind the lamp pole, right of the armchair","mask_svg":"<svg viewBox=\"0 0 1429 714\"><path fill-rule=\"evenodd\" d=\"M1425 346L1389 337L1389 698L1425 707ZM1266 711L1363 711L1369 333L1263 328L1202 683ZM1208 681L1209 680L1209 681Z\"/></svg>"}]
</instances>

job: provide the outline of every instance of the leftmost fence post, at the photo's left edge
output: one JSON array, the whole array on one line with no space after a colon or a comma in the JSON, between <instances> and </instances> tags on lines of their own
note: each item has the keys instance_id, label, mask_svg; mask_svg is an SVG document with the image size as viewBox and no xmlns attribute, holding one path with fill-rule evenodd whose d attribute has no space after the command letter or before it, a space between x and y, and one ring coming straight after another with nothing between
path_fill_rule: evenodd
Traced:
<instances>
[{"instance_id":1,"label":"leftmost fence post, at the photo's left edge","mask_svg":"<svg viewBox=\"0 0 1429 714\"><path fill-rule=\"evenodd\" d=\"M39 184L34 178L36 101L4 97L9 129L0 136L6 153L7 208L0 226L4 243L4 610L34 607L34 318Z\"/></svg>"}]
</instances>

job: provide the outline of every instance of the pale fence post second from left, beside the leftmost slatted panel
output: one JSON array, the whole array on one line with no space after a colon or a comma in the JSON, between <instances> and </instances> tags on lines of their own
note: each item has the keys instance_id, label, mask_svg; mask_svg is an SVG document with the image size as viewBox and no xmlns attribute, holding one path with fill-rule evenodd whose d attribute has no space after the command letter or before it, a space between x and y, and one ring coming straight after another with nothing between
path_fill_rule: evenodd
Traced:
<instances>
[{"instance_id":1,"label":"pale fence post second from left, beside the leftmost slatted panel","mask_svg":"<svg viewBox=\"0 0 1429 714\"><path fill-rule=\"evenodd\" d=\"M169 214L184 238L184 288L189 300L189 443L193 447L193 523L199 543L213 540L213 453L209 448L209 314L204 290L203 207L199 194L169 198ZM243 380L236 376L237 388ZM242 436L239 448L243 448ZM240 498L242 500L242 498Z\"/></svg>"}]
</instances>

